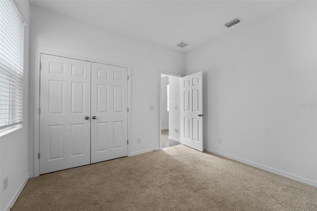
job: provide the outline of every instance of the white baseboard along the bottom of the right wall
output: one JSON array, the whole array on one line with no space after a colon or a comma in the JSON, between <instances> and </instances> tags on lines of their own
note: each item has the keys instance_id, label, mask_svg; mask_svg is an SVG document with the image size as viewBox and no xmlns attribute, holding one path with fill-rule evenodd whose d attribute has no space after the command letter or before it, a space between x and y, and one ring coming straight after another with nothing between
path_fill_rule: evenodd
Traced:
<instances>
[{"instance_id":1,"label":"white baseboard along the bottom of the right wall","mask_svg":"<svg viewBox=\"0 0 317 211\"><path fill-rule=\"evenodd\" d=\"M204 148L204 149L206 149L206 148ZM271 167L268 167L268 166L265 166L265 165L262 165L262 164L258 164L258 163L255 163L255 162L252 162L252 161L249 161L249 160L246 160L246 159L237 158L235 156L230 156L228 154L221 153L221 152L218 152L218 151L215 151L215 150L206 149L206 151L211 152L213 154L216 154L218 156L222 156L222 157L225 157L225 158L236 160L238 162L242 162L242 163L247 164L247 165L251 165L251 166L256 167L256 168L260 168L260 169L262 169L264 171L268 171L268 172L271 172L273 174L277 174L277 175L280 175L280 176L283 176L283 177L286 177L286 178L289 178L289 179L292 179L292 180L296 180L298 182L305 183L307 185L311 185L311 186L317 187L317 181L314 181L314 180L306 179L304 177L297 176L297 175L294 175L294 174L291 174L291 173L287 173L287 172L284 172L284 171L281 171L281 170L277 170L275 168L271 168Z\"/></svg>"}]
</instances>

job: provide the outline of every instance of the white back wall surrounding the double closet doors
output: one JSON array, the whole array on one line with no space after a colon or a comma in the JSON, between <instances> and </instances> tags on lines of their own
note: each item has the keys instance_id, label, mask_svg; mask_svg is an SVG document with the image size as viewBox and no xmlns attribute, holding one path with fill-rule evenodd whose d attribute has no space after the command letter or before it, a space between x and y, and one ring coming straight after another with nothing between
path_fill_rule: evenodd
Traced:
<instances>
[{"instance_id":1,"label":"white back wall surrounding the double closet doors","mask_svg":"<svg viewBox=\"0 0 317 211\"><path fill-rule=\"evenodd\" d=\"M131 152L159 149L159 71L183 74L184 55L31 6L30 116L34 115L35 49L128 64L131 69ZM150 110L154 106L154 111ZM30 118L29 171L34 168ZM137 138L141 143L137 143Z\"/></svg>"}]
</instances>

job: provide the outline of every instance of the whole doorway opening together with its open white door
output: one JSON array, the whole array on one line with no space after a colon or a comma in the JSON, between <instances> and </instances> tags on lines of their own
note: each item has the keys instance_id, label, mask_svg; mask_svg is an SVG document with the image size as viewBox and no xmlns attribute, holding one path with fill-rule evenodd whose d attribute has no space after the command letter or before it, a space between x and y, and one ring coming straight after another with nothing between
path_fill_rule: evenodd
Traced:
<instances>
[{"instance_id":1,"label":"whole doorway opening together with its open white door","mask_svg":"<svg viewBox=\"0 0 317 211\"><path fill-rule=\"evenodd\" d=\"M159 85L160 149L176 141L203 152L203 72L184 77L161 73Z\"/></svg>"}]
</instances>

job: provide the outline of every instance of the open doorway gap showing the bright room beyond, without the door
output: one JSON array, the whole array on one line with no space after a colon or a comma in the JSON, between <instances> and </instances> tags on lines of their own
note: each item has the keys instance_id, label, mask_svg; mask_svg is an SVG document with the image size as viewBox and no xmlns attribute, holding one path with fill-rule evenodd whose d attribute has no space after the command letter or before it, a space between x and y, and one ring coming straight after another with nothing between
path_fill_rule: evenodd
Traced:
<instances>
[{"instance_id":1,"label":"open doorway gap showing the bright room beyond, without the door","mask_svg":"<svg viewBox=\"0 0 317 211\"><path fill-rule=\"evenodd\" d=\"M180 144L180 77L160 75L160 149Z\"/></svg>"}]
</instances>

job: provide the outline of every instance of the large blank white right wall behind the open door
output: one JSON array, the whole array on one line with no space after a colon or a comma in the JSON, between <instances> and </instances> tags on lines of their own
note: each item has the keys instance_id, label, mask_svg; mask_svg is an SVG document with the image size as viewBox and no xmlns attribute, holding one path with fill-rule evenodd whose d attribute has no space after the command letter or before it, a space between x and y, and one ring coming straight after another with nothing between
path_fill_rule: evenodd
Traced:
<instances>
[{"instance_id":1,"label":"large blank white right wall behind the open door","mask_svg":"<svg viewBox=\"0 0 317 211\"><path fill-rule=\"evenodd\" d=\"M205 148L317 186L316 107L300 107L317 103L316 11L299 1L186 54Z\"/></svg>"}]
</instances>

